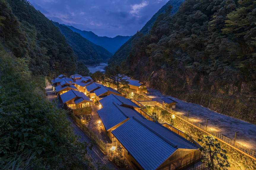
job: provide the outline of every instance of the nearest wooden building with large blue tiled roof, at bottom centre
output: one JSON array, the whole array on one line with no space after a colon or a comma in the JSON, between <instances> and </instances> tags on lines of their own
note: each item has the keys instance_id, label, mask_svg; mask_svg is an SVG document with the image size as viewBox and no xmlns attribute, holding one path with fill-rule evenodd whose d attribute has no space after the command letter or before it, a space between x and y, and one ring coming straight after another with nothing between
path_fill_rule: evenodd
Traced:
<instances>
[{"instance_id":1,"label":"nearest wooden building with large blue tiled roof, at bottom centre","mask_svg":"<svg viewBox=\"0 0 256 170\"><path fill-rule=\"evenodd\" d=\"M112 134L135 170L183 170L201 160L200 146L158 122L132 117Z\"/></svg>"}]
</instances>

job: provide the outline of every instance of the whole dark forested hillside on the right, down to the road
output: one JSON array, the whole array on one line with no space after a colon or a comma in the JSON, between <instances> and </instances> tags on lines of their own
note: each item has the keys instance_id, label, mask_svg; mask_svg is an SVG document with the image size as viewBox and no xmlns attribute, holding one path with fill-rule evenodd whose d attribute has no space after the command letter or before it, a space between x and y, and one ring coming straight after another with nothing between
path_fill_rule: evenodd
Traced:
<instances>
[{"instance_id":1,"label":"whole dark forested hillside on the right, down to the road","mask_svg":"<svg viewBox=\"0 0 256 170\"><path fill-rule=\"evenodd\" d=\"M186 0L133 41L124 73L164 94L256 122L256 1ZM152 74L153 72L153 74Z\"/></svg>"}]
</instances>

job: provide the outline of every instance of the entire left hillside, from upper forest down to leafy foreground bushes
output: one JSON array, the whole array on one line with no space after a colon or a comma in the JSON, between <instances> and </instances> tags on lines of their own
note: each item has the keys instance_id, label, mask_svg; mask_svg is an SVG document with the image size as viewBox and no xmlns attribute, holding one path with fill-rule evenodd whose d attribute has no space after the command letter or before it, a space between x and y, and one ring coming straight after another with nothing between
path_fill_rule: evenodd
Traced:
<instances>
[{"instance_id":1,"label":"entire left hillside, from upper forest down to leafy foreground bushes","mask_svg":"<svg viewBox=\"0 0 256 170\"><path fill-rule=\"evenodd\" d=\"M8 2L0 0L0 169L89 168L92 145L77 140L44 89L54 74L74 74L76 55L27 1Z\"/></svg>"}]
</instances>

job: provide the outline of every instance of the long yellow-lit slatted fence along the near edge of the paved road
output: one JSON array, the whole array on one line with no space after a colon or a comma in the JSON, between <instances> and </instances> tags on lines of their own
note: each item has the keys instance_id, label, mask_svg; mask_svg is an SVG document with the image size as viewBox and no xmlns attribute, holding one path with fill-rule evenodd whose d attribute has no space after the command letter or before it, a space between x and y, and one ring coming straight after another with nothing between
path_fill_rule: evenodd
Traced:
<instances>
[{"instance_id":1,"label":"long yellow-lit slatted fence along the near edge of the paved road","mask_svg":"<svg viewBox=\"0 0 256 170\"><path fill-rule=\"evenodd\" d=\"M212 135L212 136L216 137L217 139L221 140L222 142L232 146L236 150L239 150L240 152L243 152L243 153L247 154L247 156L249 156L249 157L253 158L254 160L256 160L256 152L255 152L255 150L249 149L249 148L241 145L240 143L238 143L238 142L236 142L236 141L234 141L234 140L232 140L232 139L222 135L221 133L215 132L214 130L209 129L206 126L203 126L202 124L189 119L187 116L179 114L179 113L177 113L176 111L174 111L174 110L172 110L170 108L166 108L161 103L157 103L156 105L161 107L162 109L165 109L166 111L169 111L169 112L175 114L177 117L183 119L184 121L186 121L186 122L188 122L190 124L193 124L195 127L199 128L200 130L203 130L203 131L209 133L210 135Z\"/></svg>"}]
</instances>

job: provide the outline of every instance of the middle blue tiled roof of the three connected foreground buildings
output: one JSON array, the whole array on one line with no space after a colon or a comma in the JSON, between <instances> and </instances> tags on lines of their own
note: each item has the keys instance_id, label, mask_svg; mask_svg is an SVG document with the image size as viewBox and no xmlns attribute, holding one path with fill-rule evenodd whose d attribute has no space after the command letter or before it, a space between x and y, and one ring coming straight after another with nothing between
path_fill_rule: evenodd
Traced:
<instances>
[{"instance_id":1,"label":"middle blue tiled roof of the three connected foreground buildings","mask_svg":"<svg viewBox=\"0 0 256 170\"><path fill-rule=\"evenodd\" d=\"M117 124L133 116L141 119L146 119L136 110L124 106L119 106L116 103L111 103L107 106L104 106L97 112L106 130L111 129Z\"/></svg>"}]
</instances>

